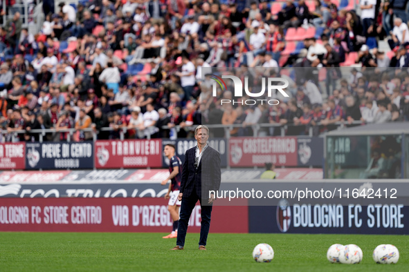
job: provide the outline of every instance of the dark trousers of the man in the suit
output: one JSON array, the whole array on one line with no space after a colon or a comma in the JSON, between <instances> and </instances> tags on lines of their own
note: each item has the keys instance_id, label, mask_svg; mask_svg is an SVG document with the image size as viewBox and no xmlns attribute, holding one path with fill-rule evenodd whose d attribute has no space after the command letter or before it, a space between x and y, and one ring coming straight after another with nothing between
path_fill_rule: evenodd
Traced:
<instances>
[{"instance_id":1,"label":"dark trousers of the man in the suit","mask_svg":"<svg viewBox=\"0 0 409 272\"><path fill-rule=\"evenodd\" d=\"M198 197L196 193L192 193L190 197L182 198L176 246L185 246L185 237L186 233L188 232L190 215L192 215L192 211L194 206L196 206L197 200L199 200L201 205L201 228L199 246L206 246L206 241L208 240L208 233L210 229L210 217L212 216L212 206L208 205L207 203L204 203L205 205L202 205L201 197Z\"/></svg>"}]
</instances>

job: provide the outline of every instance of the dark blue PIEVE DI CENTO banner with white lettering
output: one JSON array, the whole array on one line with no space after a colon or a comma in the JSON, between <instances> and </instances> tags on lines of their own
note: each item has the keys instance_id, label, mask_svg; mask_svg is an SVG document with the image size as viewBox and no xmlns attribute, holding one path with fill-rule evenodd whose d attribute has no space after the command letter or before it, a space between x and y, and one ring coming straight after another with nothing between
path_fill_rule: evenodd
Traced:
<instances>
[{"instance_id":1,"label":"dark blue PIEVE DI CENTO banner with white lettering","mask_svg":"<svg viewBox=\"0 0 409 272\"><path fill-rule=\"evenodd\" d=\"M27 143L26 170L91 169L93 142Z\"/></svg>"}]
</instances>

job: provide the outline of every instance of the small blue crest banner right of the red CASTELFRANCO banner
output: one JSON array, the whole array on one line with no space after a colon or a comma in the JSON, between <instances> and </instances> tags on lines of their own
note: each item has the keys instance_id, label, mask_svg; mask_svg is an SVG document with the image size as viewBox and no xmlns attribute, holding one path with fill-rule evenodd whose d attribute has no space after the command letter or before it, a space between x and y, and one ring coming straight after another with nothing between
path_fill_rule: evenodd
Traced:
<instances>
[{"instance_id":1,"label":"small blue crest banner right of the red CASTELFRANCO banner","mask_svg":"<svg viewBox=\"0 0 409 272\"><path fill-rule=\"evenodd\" d=\"M320 137L297 138L298 166L322 166L324 154L324 139Z\"/></svg>"}]
</instances>

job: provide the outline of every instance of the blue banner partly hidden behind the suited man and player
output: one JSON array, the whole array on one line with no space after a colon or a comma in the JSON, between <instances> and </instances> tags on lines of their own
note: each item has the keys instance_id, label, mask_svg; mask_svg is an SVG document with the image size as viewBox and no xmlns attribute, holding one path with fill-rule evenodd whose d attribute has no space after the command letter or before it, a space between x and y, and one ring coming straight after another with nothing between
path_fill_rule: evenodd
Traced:
<instances>
[{"instance_id":1,"label":"blue banner partly hidden behind the suited man and player","mask_svg":"<svg viewBox=\"0 0 409 272\"><path fill-rule=\"evenodd\" d=\"M197 141L196 139L162 139L162 149L165 147L166 144L173 144L176 146L176 156L181 159L182 162L185 161L185 153L186 150L196 146ZM227 167L227 139L226 138L212 138L208 141L209 146L215 148L215 150L219 151L220 159L221 159L221 167ZM162 155L162 165L163 167L169 167L169 159Z\"/></svg>"}]
</instances>

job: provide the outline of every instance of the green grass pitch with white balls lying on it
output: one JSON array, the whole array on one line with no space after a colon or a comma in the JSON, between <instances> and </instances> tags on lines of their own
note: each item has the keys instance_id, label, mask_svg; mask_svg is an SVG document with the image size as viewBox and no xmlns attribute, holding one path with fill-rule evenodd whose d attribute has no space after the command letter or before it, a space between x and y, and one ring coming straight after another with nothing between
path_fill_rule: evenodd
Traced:
<instances>
[{"instance_id":1,"label":"green grass pitch with white balls lying on it","mask_svg":"<svg viewBox=\"0 0 409 272\"><path fill-rule=\"evenodd\" d=\"M199 234L188 233L183 251L170 251L167 233L0 233L0 271L409 271L405 235L215 234L207 251ZM271 263L257 263L256 244L273 246ZM361 264L331 264L331 244L357 244ZM378 244L394 244L397 264L375 264Z\"/></svg>"}]
</instances>

